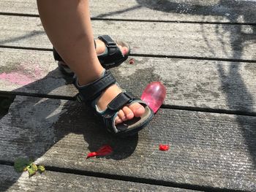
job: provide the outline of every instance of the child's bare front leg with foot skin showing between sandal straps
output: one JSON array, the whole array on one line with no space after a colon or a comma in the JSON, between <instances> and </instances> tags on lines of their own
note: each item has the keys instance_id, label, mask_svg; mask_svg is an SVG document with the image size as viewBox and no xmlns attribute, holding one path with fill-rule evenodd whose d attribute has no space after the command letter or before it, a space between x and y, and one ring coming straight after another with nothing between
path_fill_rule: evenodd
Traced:
<instances>
[{"instance_id":1,"label":"child's bare front leg with foot skin showing between sandal straps","mask_svg":"<svg viewBox=\"0 0 256 192\"><path fill-rule=\"evenodd\" d=\"M94 47L88 0L37 0L39 15L46 34L66 64L78 77L80 85L99 78L103 72ZM104 110L121 90L112 85L97 105ZM145 112L135 103L119 111L116 123L140 117Z\"/></svg>"}]
</instances>

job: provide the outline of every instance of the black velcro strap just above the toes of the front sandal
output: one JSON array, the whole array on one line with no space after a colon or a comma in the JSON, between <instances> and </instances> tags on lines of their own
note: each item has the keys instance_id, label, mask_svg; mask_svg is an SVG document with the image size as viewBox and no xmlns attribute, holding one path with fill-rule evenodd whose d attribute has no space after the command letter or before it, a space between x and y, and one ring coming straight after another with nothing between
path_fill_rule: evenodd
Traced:
<instances>
[{"instance_id":1,"label":"black velcro strap just above the toes of the front sandal","mask_svg":"<svg viewBox=\"0 0 256 192\"><path fill-rule=\"evenodd\" d=\"M132 93L119 93L118 96L116 96L115 99L108 104L108 109L113 111L121 110L125 104L129 103L129 101L132 101L133 99L136 99L136 97L132 95Z\"/></svg>"}]
</instances>

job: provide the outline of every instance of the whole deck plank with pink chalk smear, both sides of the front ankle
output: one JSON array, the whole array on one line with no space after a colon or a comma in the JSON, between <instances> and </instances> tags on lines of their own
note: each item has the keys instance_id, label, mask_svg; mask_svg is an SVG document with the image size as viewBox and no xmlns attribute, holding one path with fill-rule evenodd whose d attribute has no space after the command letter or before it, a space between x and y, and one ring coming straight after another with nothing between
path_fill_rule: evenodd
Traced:
<instances>
[{"instance_id":1,"label":"whole deck plank with pink chalk smear, both sides of the front ankle","mask_svg":"<svg viewBox=\"0 0 256 192\"><path fill-rule=\"evenodd\" d=\"M122 88L137 96L149 82L161 80L167 86L165 104L256 112L255 64L133 58L135 64L126 61L111 71ZM78 91L56 67L50 52L2 48L0 91L75 96Z\"/></svg>"}]
</instances>

